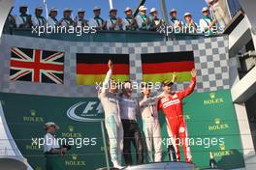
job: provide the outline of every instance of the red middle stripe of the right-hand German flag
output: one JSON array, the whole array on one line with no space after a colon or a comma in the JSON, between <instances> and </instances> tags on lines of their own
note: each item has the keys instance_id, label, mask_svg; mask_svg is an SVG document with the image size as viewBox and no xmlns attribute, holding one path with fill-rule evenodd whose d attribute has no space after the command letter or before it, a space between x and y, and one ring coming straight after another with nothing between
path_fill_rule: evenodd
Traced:
<instances>
[{"instance_id":1,"label":"red middle stripe of the right-hand German flag","mask_svg":"<svg viewBox=\"0 0 256 170\"><path fill-rule=\"evenodd\" d=\"M143 64L143 73L184 72L195 68L193 61Z\"/></svg>"}]
</instances>

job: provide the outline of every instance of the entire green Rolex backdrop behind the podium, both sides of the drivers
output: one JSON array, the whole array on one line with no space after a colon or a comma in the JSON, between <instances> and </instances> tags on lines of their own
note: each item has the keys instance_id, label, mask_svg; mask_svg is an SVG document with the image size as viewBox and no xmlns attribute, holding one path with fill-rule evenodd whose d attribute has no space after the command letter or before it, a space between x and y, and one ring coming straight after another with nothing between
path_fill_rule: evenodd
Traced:
<instances>
[{"instance_id":1,"label":"entire green Rolex backdrop behind the podium, both sides of the drivers","mask_svg":"<svg viewBox=\"0 0 256 170\"><path fill-rule=\"evenodd\" d=\"M46 122L59 125L57 137L85 140L81 148L73 147L68 155L63 156L67 169L91 170L106 166L101 123L97 121L104 114L98 99L6 93L1 93L0 99L16 145L35 170L45 169L45 157L43 148L33 145L32 138L44 136ZM213 153L221 168L244 167L240 130L229 90L193 93L184 99L184 115L191 144L194 141L191 146L193 161L199 168L208 167L209 152ZM166 141L168 136L162 112L159 119L163 141ZM141 125L140 120L139 123ZM163 148L164 160L167 161L166 145Z\"/></svg>"}]
</instances>

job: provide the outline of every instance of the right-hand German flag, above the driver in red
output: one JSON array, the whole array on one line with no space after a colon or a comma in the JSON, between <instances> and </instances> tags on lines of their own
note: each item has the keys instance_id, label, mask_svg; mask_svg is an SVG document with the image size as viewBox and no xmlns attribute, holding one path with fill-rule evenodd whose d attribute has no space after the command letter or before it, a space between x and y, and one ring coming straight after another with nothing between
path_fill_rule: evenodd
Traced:
<instances>
[{"instance_id":1,"label":"right-hand German flag, above the driver in red","mask_svg":"<svg viewBox=\"0 0 256 170\"><path fill-rule=\"evenodd\" d=\"M172 79L176 82L189 81L190 71L195 68L193 51L142 54L144 82L162 82Z\"/></svg>"}]
</instances>

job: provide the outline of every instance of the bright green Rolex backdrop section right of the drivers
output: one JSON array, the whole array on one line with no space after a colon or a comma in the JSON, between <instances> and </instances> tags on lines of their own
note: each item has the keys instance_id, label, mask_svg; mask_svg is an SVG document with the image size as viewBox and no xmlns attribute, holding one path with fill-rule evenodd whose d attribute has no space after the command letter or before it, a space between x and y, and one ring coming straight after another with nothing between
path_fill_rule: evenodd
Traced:
<instances>
[{"instance_id":1,"label":"bright green Rolex backdrop section right of the drivers","mask_svg":"<svg viewBox=\"0 0 256 170\"><path fill-rule=\"evenodd\" d=\"M212 152L219 168L244 167L240 129L230 91L193 93L183 104L188 138L195 143L191 145L193 162L200 168L208 168L209 152ZM162 134L167 134L161 113L160 119Z\"/></svg>"}]
</instances>

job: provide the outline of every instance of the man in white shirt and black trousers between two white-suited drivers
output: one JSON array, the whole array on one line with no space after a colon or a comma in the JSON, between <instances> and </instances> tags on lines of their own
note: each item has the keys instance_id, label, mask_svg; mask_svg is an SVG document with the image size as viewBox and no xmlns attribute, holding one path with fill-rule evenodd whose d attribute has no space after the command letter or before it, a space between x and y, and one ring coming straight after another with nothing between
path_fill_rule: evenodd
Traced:
<instances>
[{"instance_id":1,"label":"man in white shirt and black trousers between two white-suited drivers","mask_svg":"<svg viewBox=\"0 0 256 170\"><path fill-rule=\"evenodd\" d=\"M136 116L141 116L137 99L132 98L132 83L122 84L122 94L119 99L121 121L124 130L123 156L126 165L132 165L131 144L136 148L137 164L144 163L144 143Z\"/></svg>"}]
</instances>

